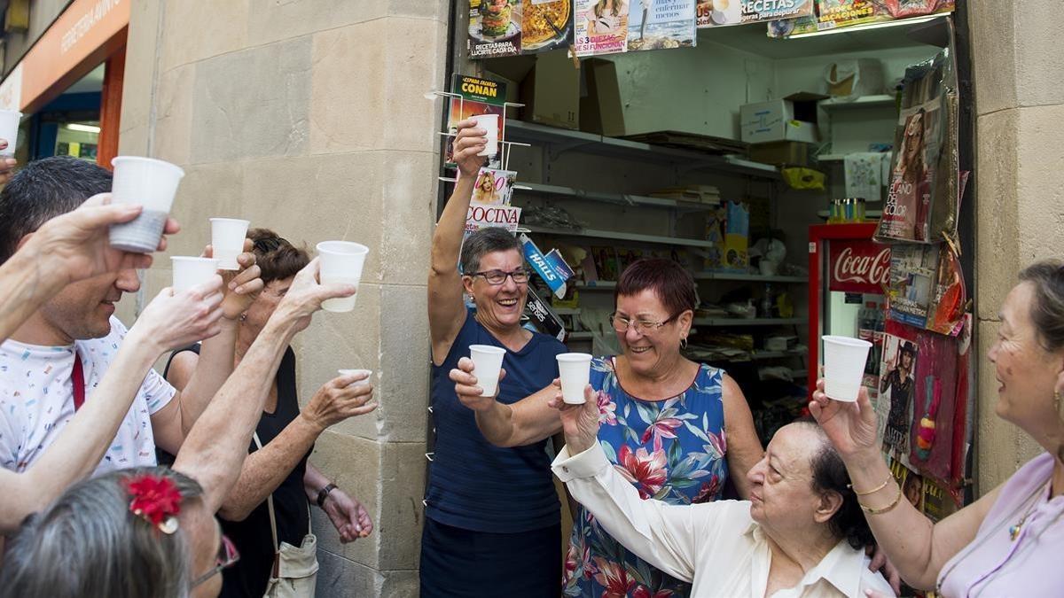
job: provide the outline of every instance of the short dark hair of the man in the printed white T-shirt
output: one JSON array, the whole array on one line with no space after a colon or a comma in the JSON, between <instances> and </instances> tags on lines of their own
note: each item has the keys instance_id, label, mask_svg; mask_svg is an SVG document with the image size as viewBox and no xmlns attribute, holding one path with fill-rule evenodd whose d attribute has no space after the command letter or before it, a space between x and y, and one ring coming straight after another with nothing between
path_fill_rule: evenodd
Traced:
<instances>
[{"instance_id":1,"label":"short dark hair of the man in the printed white T-shirt","mask_svg":"<svg viewBox=\"0 0 1064 598\"><path fill-rule=\"evenodd\" d=\"M110 190L111 172L85 160L55 155L23 166L0 190L0 264L23 236Z\"/></svg>"}]
</instances>

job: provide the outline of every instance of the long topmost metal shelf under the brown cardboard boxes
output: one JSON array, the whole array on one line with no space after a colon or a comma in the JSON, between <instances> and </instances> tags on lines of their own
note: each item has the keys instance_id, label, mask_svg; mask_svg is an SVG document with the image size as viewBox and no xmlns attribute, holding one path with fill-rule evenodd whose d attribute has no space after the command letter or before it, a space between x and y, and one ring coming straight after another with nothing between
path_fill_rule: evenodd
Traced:
<instances>
[{"instance_id":1,"label":"long topmost metal shelf under the brown cardboard boxes","mask_svg":"<svg viewBox=\"0 0 1064 598\"><path fill-rule=\"evenodd\" d=\"M726 175L757 177L778 180L780 171L775 166L750 162L735 155L714 155L697 151L652 146L628 139L605 137L583 131L569 131L545 127L523 120L506 119L506 132L513 138L526 143L559 145L562 150L579 150L609 157L655 162L659 164L682 164L685 168L708 168Z\"/></svg>"}]
</instances>

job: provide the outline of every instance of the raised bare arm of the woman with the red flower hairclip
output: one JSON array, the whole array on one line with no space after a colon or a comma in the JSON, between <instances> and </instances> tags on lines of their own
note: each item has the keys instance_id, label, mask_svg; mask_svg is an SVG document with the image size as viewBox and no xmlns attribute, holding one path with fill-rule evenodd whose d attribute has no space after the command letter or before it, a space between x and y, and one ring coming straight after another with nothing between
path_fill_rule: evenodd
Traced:
<instances>
[{"instance_id":1,"label":"raised bare arm of the woman with the red flower hairclip","mask_svg":"<svg viewBox=\"0 0 1064 598\"><path fill-rule=\"evenodd\" d=\"M266 396L292 337L306 328L321 301L354 294L351 285L323 286L315 259L296 275L292 287L266 322L233 375L193 426L173 468L203 486L211 513L221 508L240 475L248 445Z\"/></svg>"}]
</instances>

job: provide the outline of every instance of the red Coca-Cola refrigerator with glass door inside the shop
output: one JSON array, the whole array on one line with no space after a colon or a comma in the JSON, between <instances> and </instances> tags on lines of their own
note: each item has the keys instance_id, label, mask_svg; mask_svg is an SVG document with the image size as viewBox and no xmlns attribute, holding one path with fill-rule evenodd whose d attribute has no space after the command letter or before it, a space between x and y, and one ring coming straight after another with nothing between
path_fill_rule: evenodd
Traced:
<instances>
[{"instance_id":1,"label":"red Coca-Cola refrigerator with glass door inside the shop","mask_svg":"<svg viewBox=\"0 0 1064 598\"><path fill-rule=\"evenodd\" d=\"M821 336L864 338L872 344L864 378L872 398L880 387L891 276L891 247L874 242L875 232L875 223L809 228L809 363L815 368L812 372L819 372L824 365ZM809 377L811 397L816 379L816 375Z\"/></svg>"}]
</instances>

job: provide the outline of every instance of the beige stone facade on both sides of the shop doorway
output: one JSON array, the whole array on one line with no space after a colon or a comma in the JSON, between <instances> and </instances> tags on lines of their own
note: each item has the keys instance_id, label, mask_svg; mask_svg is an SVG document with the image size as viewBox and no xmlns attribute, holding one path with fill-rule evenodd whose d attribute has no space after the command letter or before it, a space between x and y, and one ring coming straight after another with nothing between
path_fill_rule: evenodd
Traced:
<instances>
[{"instance_id":1,"label":"beige stone facade on both sides of the shop doorway","mask_svg":"<svg viewBox=\"0 0 1064 598\"><path fill-rule=\"evenodd\" d=\"M1062 255L1064 60L1049 0L968 0L975 81L980 493L1038 449L994 415L985 355L1016 272ZM66 2L34 2L4 72ZM416 596L429 380L426 272L436 214L445 0L131 0L120 153L185 168L171 254L243 216L309 246L372 248L353 314L321 314L296 342L307 400L339 367L375 370L380 409L326 432L312 461L367 506L370 538L340 546L315 510L319 596ZM146 272L127 322L168 284Z\"/></svg>"}]
</instances>

